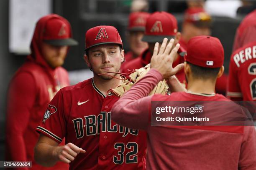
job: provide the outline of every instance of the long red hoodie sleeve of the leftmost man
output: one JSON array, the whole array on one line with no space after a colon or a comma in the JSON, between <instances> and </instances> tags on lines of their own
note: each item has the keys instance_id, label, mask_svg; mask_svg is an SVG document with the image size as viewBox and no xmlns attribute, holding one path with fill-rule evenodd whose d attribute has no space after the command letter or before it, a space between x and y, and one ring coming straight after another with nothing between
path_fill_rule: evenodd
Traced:
<instances>
[{"instance_id":1,"label":"long red hoodie sleeve of the leftmost man","mask_svg":"<svg viewBox=\"0 0 256 170\"><path fill-rule=\"evenodd\" d=\"M30 110L35 99L36 84L33 76L28 72L15 75L10 82L7 98L6 160L28 160L23 134L27 128Z\"/></svg>"}]
</instances>

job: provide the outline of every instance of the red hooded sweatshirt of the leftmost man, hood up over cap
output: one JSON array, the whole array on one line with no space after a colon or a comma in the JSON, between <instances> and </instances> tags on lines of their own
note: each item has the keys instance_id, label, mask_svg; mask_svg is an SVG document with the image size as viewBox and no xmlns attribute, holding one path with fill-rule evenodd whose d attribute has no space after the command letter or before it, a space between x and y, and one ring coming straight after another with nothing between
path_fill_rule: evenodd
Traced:
<instances>
[{"instance_id":1,"label":"red hooded sweatshirt of the leftmost man, hood up over cap","mask_svg":"<svg viewBox=\"0 0 256 170\"><path fill-rule=\"evenodd\" d=\"M31 42L32 53L13 76L7 99L6 160L32 161L32 168L29 169L35 170L68 169L68 164L65 163L46 168L33 159L33 149L39 137L35 129L43 120L45 109L56 92L69 85L67 71L63 67L51 68L41 54L44 27L51 18L67 22L55 14L38 21ZM69 29L71 30L70 25Z\"/></svg>"}]
</instances>

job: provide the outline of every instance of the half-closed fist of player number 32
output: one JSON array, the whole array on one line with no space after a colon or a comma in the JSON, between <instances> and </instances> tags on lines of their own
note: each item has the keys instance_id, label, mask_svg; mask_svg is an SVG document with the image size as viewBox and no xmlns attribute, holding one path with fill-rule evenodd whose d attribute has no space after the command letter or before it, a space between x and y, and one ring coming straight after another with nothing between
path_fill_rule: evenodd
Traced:
<instances>
[{"instance_id":1,"label":"half-closed fist of player number 32","mask_svg":"<svg viewBox=\"0 0 256 170\"><path fill-rule=\"evenodd\" d=\"M79 153L85 153L85 150L77 147L73 143L68 143L67 145L57 147L54 156L59 161L71 163L71 161L74 160Z\"/></svg>"}]
</instances>

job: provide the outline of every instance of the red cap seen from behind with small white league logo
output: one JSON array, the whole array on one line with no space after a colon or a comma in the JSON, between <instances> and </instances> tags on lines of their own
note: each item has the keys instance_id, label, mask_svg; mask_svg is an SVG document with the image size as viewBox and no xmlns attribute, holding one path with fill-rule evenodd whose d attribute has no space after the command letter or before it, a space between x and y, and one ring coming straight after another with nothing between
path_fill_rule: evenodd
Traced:
<instances>
[{"instance_id":1,"label":"red cap seen from behind with small white league logo","mask_svg":"<svg viewBox=\"0 0 256 170\"><path fill-rule=\"evenodd\" d=\"M221 67L224 63L224 49L216 37L196 36L189 40L184 59L201 67Z\"/></svg>"}]
</instances>

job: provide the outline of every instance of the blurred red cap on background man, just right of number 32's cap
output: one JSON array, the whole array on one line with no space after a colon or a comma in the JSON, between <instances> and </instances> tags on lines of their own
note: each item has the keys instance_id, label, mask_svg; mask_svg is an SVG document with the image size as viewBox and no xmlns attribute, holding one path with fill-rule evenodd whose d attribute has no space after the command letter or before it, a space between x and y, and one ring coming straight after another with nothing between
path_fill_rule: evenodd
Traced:
<instances>
[{"instance_id":1,"label":"blurred red cap on background man, just right of number 32's cap","mask_svg":"<svg viewBox=\"0 0 256 170\"><path fill-rule=\"evenodd\" d=\"M134 12L129 15L129 31L145 31L146 20L149 17L146 12Z\"/></svg>"}]
</instances>

